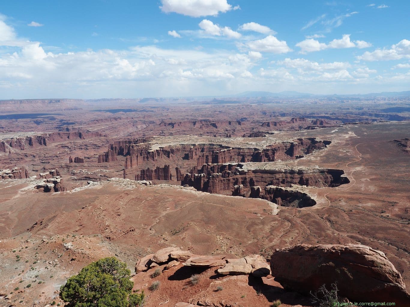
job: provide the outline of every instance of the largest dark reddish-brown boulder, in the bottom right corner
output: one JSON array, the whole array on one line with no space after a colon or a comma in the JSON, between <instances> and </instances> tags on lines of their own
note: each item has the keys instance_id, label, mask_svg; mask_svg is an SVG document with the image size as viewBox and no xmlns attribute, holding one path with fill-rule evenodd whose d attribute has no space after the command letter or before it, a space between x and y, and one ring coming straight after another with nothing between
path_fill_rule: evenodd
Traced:
<instances>
[{"instance_id":1,"label":"largest dark reddish-brown boulder, in the bottom right corner","mask_svg":"<svg viewBox=\"0 0 410 307\"><path fill-rule=\"evenodd\" d=\"M381 251L364 245L301 244L276 250L275 280L284 288L309 294L337 283L339 295L356 302L395 302L410 306L400 273Z\"/></svg>"}]
</instances>

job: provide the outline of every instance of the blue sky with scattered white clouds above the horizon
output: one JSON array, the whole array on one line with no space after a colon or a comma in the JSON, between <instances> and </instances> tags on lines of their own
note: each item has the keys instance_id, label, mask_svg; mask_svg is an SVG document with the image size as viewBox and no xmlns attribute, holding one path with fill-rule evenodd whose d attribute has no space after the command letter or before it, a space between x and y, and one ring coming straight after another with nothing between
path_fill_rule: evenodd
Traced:
<instances>
[{"instance_id":1,"label":"blue sky with scattered white clouds above the horizon","mask_svg":"<svg viewBox=\"0 0 410 307\"><path fill-rule=\"evenodd\" d=\"M410 1L7 1L0 99L410 89Z\"/></svg>"}]
</instances>

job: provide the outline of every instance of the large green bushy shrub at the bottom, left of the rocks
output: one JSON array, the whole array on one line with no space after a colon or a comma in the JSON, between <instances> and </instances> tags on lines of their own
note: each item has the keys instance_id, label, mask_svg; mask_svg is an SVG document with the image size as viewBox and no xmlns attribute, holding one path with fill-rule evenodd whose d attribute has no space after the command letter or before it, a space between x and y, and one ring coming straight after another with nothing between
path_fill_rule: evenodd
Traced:
<instances>
[{"instance_id":1,"label":"large green bushy shrub at the bottom, left of the rocks","mask_svg":"<svg viewBox=\"0 0 410 307\"><path fill-rule=\"evenodd\" d=\"M135 302L136 296L143 300L144 293L131 294L130 274L126 264L115 257L100 259L68 278L60 289L60 298L67 307L135 307L130 300Z\"/></svg>"}]
</instances>

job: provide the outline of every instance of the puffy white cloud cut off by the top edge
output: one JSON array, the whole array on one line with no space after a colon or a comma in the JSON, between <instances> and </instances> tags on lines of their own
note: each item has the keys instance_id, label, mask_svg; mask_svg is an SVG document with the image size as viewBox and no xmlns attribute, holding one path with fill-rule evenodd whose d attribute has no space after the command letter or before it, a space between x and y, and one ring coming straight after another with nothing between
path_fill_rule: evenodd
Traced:
<instances>
[{"instance_id":1,"label":"puffy white cloud cut off by the top edge","mask_svg":"<svg viewBox=\"0 0 410 307\"><path fill-rule=\"evenodd\" d=\"M232 9L226 0L161 0L164 13L178 13L191 17L216 16ZM239 6L234 9L239 9Z\"/></svg>"}]
</instances>

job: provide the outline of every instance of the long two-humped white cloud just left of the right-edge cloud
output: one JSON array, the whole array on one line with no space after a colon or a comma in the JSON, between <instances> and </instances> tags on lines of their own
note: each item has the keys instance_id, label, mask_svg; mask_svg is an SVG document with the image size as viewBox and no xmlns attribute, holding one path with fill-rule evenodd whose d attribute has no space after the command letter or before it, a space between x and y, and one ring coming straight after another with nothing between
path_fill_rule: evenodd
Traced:
<instances>
[{"instance_id":1,"label":"long two-humped white cloud just left of the right-edge cloud","mask_svg":"<svg viewBox=\"0 0 410 307\"><path fill-rule=\"evenodd\" d=\"M300 52L305 54L307 52L314 52L314 51L320 51L320 50L325 50L325 49L342 49L342 48L352 48L352 47L367 48L367 47L370 47L371 44L365 41L352 42L350 40L350 34L343 34L341 39L334 39L333 41L330 41L328 44L319 43L319 41L313 38L310 38L310 39L305 39L304 41L297 43L296 46L300 47L301 48Z\"/></svg>"}]
</instances>

